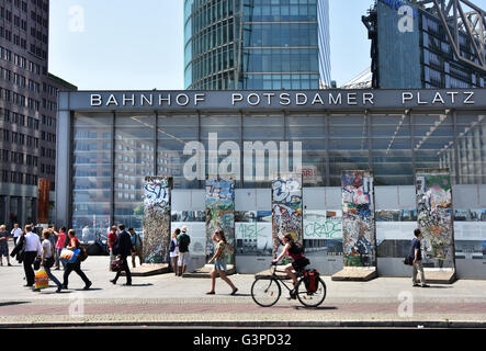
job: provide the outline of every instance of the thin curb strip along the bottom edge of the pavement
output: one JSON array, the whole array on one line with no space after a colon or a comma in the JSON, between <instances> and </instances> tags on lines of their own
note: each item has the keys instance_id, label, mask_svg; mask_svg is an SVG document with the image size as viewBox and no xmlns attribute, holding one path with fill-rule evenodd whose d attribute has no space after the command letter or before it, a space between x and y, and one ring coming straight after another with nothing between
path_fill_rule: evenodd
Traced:
<instances>
[{"instance_id":1,"label":"thin curb strip along the bottom edge of the pavement","mask_svg":"<svg viewBox=\"0 0 486 351\"><path fill-rule=\"evenodd\" d=\"M100 328L100 327L212 327L212 328L414 328L414 329L486 329L486 321L77 321L7 322L0 329L25 328Z\"/></svg>"}]
</instances>

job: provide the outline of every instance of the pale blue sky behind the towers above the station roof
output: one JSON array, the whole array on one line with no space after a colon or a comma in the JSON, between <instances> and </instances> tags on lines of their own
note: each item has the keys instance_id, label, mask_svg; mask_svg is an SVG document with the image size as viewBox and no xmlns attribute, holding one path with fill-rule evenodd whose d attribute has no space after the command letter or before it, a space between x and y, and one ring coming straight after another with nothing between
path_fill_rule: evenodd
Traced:
<instances>
[{"instance_id":1,"label":"pale blue sky behind the towers above the station roof","mask_svg":"<svg viewBox=\"0 0 486 351\"><path fill-rule=\"evenodd\" d=\"M370 66L361 15L372 3L330 0L338 86ZM183 0L50 0L49 31L49 71L79 89L184 88Z\"/></svg>"}]
</instances>

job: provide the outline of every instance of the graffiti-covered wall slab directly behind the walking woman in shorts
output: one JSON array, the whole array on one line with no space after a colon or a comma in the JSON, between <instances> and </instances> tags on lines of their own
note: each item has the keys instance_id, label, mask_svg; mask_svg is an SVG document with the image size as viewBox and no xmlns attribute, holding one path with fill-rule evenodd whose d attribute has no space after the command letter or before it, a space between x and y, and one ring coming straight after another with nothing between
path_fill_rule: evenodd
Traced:
<instances>
[{"instance_id":1,"label":"graffiti-covered wall slab directly behind the walking woman in shorts","mask_svg":"<svg viewBox=\"0 0 486 351\"><path fill-rule=\"evenodd\" d=\"M214 230L223 229L235 248L235 182L206 180L206 259L214 254ZM226 262L235 264L235 254L227 252Z\"/></svg>"}]
</instances>

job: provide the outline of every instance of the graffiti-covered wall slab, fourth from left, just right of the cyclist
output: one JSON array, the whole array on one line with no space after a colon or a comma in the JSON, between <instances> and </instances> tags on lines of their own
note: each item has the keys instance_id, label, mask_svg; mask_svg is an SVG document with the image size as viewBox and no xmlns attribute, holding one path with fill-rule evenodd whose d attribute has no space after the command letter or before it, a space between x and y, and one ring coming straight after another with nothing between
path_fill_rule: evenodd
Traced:
<instances>
[{"instance_id":1,"label":"graffiti-covered wall slab, fourth from left, just right of the cyclist","mask_svg":"<svg viewBox=\"0 0 486 351\"><path fill-rule=\"evenodd\" d=\"M341 191L344 267L376 267L373 173L343 171Z\"/></svg>"}]
</instances>

